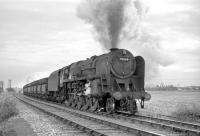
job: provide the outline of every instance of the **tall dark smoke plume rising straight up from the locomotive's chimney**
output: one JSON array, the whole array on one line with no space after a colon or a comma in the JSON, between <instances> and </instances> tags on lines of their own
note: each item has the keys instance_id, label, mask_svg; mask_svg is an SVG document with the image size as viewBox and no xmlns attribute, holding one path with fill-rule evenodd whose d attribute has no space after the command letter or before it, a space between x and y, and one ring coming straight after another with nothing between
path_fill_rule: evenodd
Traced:
<instances>
[{"instance_id":1,"label":"tall dark smoke plume rising straight up from the locomotive's chimney","mask_svg":"<svg viewBox=\"0 0 200 136\"><path fill-rule=\"evenodd\" d=\"M124 37L134 37L141 13L138 1L86 0L77 8L77 15L92 24L98 41L106 48L117 47Z\"/></svg>"}]
</instances>

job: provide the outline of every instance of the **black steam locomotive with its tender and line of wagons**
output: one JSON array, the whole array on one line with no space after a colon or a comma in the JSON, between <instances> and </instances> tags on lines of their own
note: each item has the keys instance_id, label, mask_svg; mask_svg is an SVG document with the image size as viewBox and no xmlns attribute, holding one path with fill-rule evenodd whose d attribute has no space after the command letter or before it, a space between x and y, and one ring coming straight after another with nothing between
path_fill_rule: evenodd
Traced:
<instances>
[{"instance_id":1,"label":"black steam locomotive with its tender and line of wagons","mask_svg":"<svg viewBox=\"0 0 200 136\"><path fill-rule=\"evenodd\" d=\"M150 94L144 89L145 61L125 49L72 63L23 87L24 95L81 110L137 112Z\"/></svg>"}]
</instances>

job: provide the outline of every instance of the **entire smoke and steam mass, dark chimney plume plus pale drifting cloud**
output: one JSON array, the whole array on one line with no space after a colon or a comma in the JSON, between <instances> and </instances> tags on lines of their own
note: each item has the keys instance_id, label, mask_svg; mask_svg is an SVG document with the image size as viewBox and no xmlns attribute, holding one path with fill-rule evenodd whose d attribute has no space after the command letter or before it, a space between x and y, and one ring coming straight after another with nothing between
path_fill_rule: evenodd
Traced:
<instances>
[{"instance_id":1,"label":"entire smoke and steam mass, dark chimney plume plus pale drifting cloud","mask_svg":"<svg viewBox=\"0 0 200 136\"><path fill-rule=\"evenodd\" d=\"M173 60L160 47L159 37L144 30L142 19L147 11L140 0L85 0L77 15L93 26L106 49L131 45L135 55L144 57L146 80L150 81L158 76L160 66L168 66Z\"/></svg>"}]
</instances>

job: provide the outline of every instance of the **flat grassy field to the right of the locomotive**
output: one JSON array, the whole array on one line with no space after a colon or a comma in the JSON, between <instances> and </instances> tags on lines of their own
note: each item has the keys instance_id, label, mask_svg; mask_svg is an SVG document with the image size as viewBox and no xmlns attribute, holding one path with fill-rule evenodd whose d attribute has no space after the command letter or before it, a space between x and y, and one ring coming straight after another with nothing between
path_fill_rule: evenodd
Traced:
<instances>
[{"instance_id":1,"label":"flat grassy field to the right of the locomotive","mask_svg":"<svg viewBox=\"0 0 200 136\"><path fill-rule=\"evenodd\" d=\"M152 98L139 113L200 122L200 91L149 91Z\"/></svg>"}]
</instances>

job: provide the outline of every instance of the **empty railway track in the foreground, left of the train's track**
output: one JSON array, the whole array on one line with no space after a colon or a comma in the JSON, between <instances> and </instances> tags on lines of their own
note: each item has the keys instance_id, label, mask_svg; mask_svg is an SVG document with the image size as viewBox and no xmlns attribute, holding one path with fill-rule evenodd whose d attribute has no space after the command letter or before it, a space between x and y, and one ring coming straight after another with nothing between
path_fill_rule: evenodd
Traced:
<instances>
[{"instance_id":1,"label":"empty railway track in the foreground, left of the train's track","mask_svg":"<svg viewBox=\"0 0 200 136\"><path fill-rule=\"evenodd\" d=\"M147 132L140 129L135 129L129 126L116 124L113 122L106 121L100 118L94 118L92 116L78 113L77 111L66 110L64 107L58 105L52 105L38 100L30 98L23 98L16 96L17 99L29 104L39 110L56 117L59 120L64 121L82 131L87 132L90 135L97 136L115 136L115 135L140 135L140 136L163 136L154 132Z\"/></svg>"}]
</instances>

